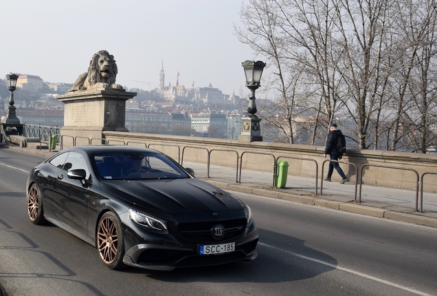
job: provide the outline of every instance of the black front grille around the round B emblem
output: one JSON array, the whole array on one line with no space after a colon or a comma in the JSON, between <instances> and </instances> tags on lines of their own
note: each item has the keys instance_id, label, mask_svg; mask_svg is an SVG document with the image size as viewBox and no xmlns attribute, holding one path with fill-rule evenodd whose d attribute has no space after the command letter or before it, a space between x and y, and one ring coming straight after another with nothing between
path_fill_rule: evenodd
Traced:
<instances>
[{"instance_id":1,"label":"black front grille around the round B emblem","mask_svg":"<svg viewBox=\"0 0 437 296\"><path fill-rule=\"evenodd\" d=\"M216 243L217 240L212 236L212 227L217 224L225 227L225 236L221 241L234 240L243 235L246 227L246 219L192 222L179 224L179 232L186 240L196 243Z\"/></svg>"}]
</instances>

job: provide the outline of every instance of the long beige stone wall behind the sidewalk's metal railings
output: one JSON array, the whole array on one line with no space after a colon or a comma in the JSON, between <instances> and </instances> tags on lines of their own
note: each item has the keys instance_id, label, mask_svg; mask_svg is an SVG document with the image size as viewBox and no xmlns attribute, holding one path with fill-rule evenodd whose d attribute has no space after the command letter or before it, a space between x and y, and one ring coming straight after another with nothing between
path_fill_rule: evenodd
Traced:
<instances>
[{"instance_id":1,"label":"long beige stone wall behind the sidewalk's metal railings","mask_svg":"<svg viewBox=\"0 0 437 296\"><path fill-rule=\"evenodd\" d=\"M275 156L275 158L280 157L280 160L289 162L289 175L302 175L306 177L315 177L315 162L317 162L319 179L322 173L322 164L326 160L326 158L323 158L324 147L320 146L267 142L243 143L238 140L126 132L103 132L103 134L109 144L147 145L150 148L168 154L176 160L180 151L181 156L183 153L182 161L184 162L206 163L208 159L208 151L206 149L208 149L212 151L211 164L236 167L237 152L238 156L243 154L243 168L273 171L273 156ZM288 158L283 158L282 156ZM306 160L292 158L305 158ZM370 164L370 166L364 167L362 176L363 184L370 185L415 190L416 173L409 171L410 169L416 170L419 177L425 172L437 173L437 156L432 154L348 149L341 161L355 164L358 173L363 164ZM372 167L372 165L400 167L407 170ZM355 182L357 178L355 167L351 164L340 164L340 166L351 182ZM324 176L326 176L327 171L328 162L325 162ZM337 172L333 174L333 180L336 180L335 178L340 180ZM423 190L437 192L437 175L425 175Z\"/></svg>"}]
</instances>

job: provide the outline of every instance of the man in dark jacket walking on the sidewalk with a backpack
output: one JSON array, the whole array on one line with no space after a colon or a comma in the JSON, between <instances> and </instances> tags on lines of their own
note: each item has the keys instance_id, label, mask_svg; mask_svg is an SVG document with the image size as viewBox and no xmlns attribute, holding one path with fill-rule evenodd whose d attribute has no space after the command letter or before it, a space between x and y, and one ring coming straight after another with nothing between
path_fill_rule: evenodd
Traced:
<instances>
[{"instance_id":1,"label":"man in dark jacket walking on the sidewalk with a backpack","mask_svg":"<svg viewBox=\"0 0 437 296\"><path fill-rule=\"evenodd\" d=\"M326 158L326 155L328 154L331 160L339 160L343 157L343 153L340 153L337 150L337 141L341 135L341 130L337 130L337 124L332 123L329 127L328 138L326 139L325 153L323 155L324 158ZM349 181L346 175L344 175L344 172L339 166L338 162L329 162L328 175L326 175L326 179L324 179L324 181L330 182L330 177L333 175L334 169L341 177L340 184L344 184Z\"/></svg>"}]
</instances>

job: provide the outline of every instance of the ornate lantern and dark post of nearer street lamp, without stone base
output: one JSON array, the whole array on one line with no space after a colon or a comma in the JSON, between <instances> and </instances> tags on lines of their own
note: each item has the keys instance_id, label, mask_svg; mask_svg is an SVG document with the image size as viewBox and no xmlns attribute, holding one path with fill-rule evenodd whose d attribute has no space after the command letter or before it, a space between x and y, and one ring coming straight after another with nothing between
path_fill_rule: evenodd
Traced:
<instances>
[{"instance_id":1,"label":"ornate lantern and dark post of nearer street lamp, without stone base","mask_svg":"<svg viewBox=\"0 0 437 296\"><path fill-rule=\"evenodd\" d=\"M255 103L255 90L260 87L260 80L262 75L262 70L265 67L265 62L255 62L255 61L245 61L241 65L245 69L246 75L246 86L250 90L249 97L249 107L247 107L247 113L249 117L255 116L256 113L256 103Z\"/></svg>"}]
</instances>

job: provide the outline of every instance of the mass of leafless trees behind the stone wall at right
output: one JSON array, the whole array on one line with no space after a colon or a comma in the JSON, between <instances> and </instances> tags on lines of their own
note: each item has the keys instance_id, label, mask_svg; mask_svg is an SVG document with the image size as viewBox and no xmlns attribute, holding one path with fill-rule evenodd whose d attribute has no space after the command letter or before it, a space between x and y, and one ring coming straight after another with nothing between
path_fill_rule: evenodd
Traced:
<instances>
[{"instance_id":1,"label":"mass of leafless trees behind the stone wall at right","mask_svg":"<svg viewBox=\"0 0 437 296\"><path fill-rule=\"evenodd\" d=\"M436 1L250 0L235 32L267 58L263 119L289 143L314 145L335 120L361 149L425 153L436 143Z\"/></svg>"}]
</instances>

